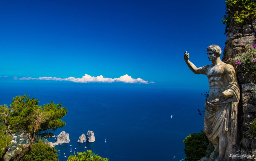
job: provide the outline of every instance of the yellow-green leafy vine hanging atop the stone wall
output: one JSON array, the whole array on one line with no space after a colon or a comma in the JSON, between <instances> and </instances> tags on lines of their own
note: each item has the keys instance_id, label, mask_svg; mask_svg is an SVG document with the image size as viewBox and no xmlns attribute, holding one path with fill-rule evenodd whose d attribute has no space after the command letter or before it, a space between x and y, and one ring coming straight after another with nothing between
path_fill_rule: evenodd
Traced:
<instances>
[{"instance_id":1,"label":"yellow-green leafy vine hanging atop the stone wall","mask_svg":"<svg viewBox=\"0 0 256 161\"><path fill-rule=\"evenodd\" d=\"M226 24L225 33L229 28L231 19L235 19L238 26L246 20L251 21L256 18L256 2L252 0L226 0L226 13L223 24Z\"/></svg>"}]
</instances>

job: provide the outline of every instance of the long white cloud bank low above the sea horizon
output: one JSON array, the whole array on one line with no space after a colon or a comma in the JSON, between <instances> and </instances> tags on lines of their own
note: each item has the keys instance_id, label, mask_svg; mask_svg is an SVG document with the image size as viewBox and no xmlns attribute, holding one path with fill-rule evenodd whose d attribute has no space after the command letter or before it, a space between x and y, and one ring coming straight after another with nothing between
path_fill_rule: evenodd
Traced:
<instances>
[{"instance_id":1,"label":"long white cloud bank low above the sea horizon","mask_svg":"<svg viewBox=\"0 0 256 161\"><path fill-rule=\"evenodd\" d=\"M14 79L17 79L17 77L14 77ZM82 78L56 78L56 77L39 77L39 78L32 78L32 77L22 77L19 78L19 80L55 80L55 81L71 81L71 82L80 82L80 83L89 83L89 82L124 82L124 83L154 83L154 82L148 82L141 78L132 78L131 76L128 76L128 74L125 74L124 76L121 76L119 78L104 78L102 75L94 77L90 76L88 74L84 74Z\"/></svg>"}]
</instances>

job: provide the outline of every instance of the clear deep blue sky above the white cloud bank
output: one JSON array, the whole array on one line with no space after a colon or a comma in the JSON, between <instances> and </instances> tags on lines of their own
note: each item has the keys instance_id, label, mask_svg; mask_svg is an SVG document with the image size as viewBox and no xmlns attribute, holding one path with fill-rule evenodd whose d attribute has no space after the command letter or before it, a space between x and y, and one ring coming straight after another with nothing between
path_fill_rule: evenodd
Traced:
<instances>
[{"instance_id":1,"label":"clear deep blue sky above the white cloud bank","mask_svg":"<svg viewBox=\"0 0 256 161\"><path fill-rule=\"evenodd\" d=\"M201 67L211 63L209 45L223 51L225 7L225 1L1 1L0 76L128 74L156 84L208 85L183 54Z\"/></svg>"}]
</instances>

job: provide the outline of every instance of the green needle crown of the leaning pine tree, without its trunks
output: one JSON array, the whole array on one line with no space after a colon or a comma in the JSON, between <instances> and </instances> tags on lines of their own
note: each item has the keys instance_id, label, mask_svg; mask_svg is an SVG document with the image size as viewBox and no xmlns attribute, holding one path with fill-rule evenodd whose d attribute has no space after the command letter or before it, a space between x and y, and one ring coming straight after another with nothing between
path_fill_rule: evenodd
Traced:
<instances>
[{"instance_id":1,"label":"green needle crown of the leaning pine tree, without its trunks","mask_svg":"<svg viewBox=\"0 0 256 161\"><path fill-rule=\"evenodd\" d=\"M10 104L10 113L8 122L12 130L24 131L37 135L53 135L50 130L55 131L59 127L66 125L60 118L64 117L68 112L65 107L61 107L62 103L54 104L53 102L38 105L38 99L30 99L27 95L16 96Z\"/></svg>"}]
</instances>

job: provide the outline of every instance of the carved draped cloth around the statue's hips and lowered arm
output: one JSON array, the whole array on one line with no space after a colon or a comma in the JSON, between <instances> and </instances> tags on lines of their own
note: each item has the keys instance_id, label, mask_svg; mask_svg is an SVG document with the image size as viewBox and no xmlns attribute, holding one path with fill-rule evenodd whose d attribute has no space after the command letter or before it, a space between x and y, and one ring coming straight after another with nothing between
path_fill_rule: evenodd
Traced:
<instances>
[{"instance_id":1,"label":"carved draped cloth around the statue's hips and lowered arm","mask_svg":"<svg viewBox=\"0 0 256 161\"><path fill-rule=\"evenodd\" d=\"M237 107L240 89L237 82L230 82L227 89L232 90L233 96L205 100L204 132L213 141L221 134L226 134L228 144L234 145L237 138Z\"/></svg>"}]
</instances>

